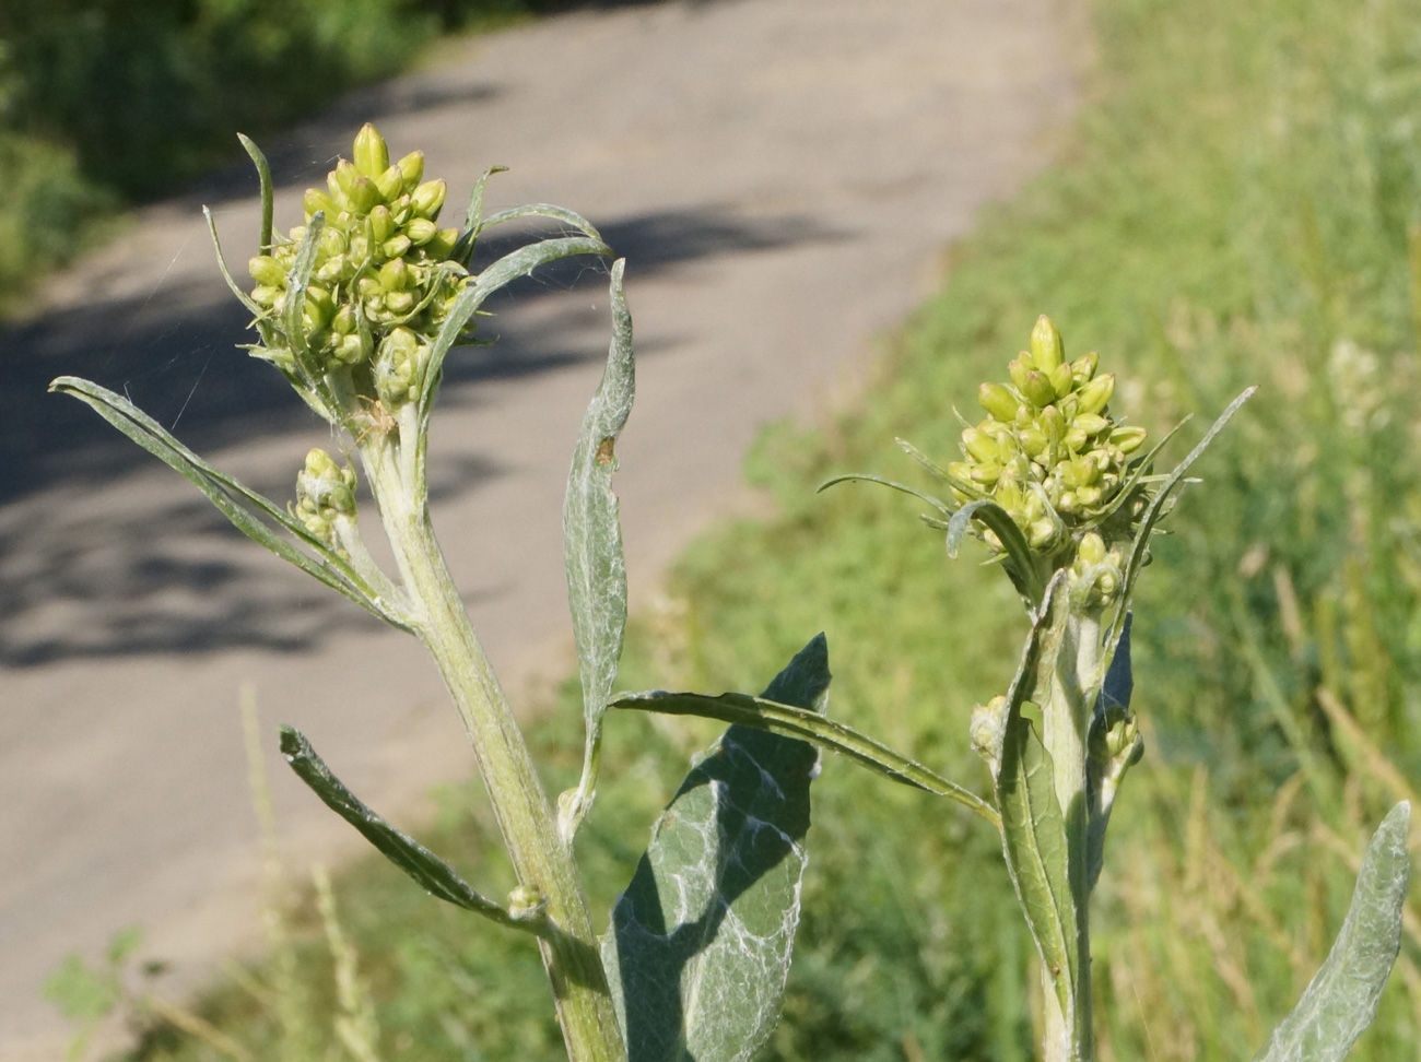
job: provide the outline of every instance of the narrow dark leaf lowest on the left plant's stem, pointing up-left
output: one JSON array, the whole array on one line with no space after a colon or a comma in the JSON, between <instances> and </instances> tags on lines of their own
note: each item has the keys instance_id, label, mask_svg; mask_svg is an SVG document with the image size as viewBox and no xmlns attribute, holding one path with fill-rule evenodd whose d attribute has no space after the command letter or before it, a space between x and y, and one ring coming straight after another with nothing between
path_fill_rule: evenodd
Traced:
<instances>
[{"instance_id":1,"label":"narrow dark leaf lowest on the left plant's stem, pointing up-left","mask_svg":"<svg viewBox=\"0 0 1421 1062\"><path fill-rule=\"evenodd\" d=\"M355 826L385 859L414 877L431 896L483 914L504 926L530 931L540 929L540 923L520 921L493 900L475 892L445 860L371 811L345 788L340 778L331 774L331 768L315 754L301 731L281 727L281 755L327 808Z\"/></svg>"}]
</instances>

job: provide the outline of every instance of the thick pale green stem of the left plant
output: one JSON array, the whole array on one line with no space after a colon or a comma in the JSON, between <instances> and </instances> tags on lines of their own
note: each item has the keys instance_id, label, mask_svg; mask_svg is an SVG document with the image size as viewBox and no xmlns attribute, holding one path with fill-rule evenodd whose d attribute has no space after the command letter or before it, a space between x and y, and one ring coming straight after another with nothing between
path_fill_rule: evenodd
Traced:
<instances>
[{"instance_id":1,"label":"thick pale green stem of the left plant","mask_svg":"<svg viewBox=\"0 0 1421 1062\"><path fill-rule=\"evenodd\" d=\"M418 473L401 460L401 447L389 437L362 443L361 457L418 613L416 630L469 734L519 883L547 902L551 930L539 946L568 1058L625 1062L627 1049L571 849L558 835L523 734L435 541L423 491L414 480Z\"/></svg>"}]
</instances>

